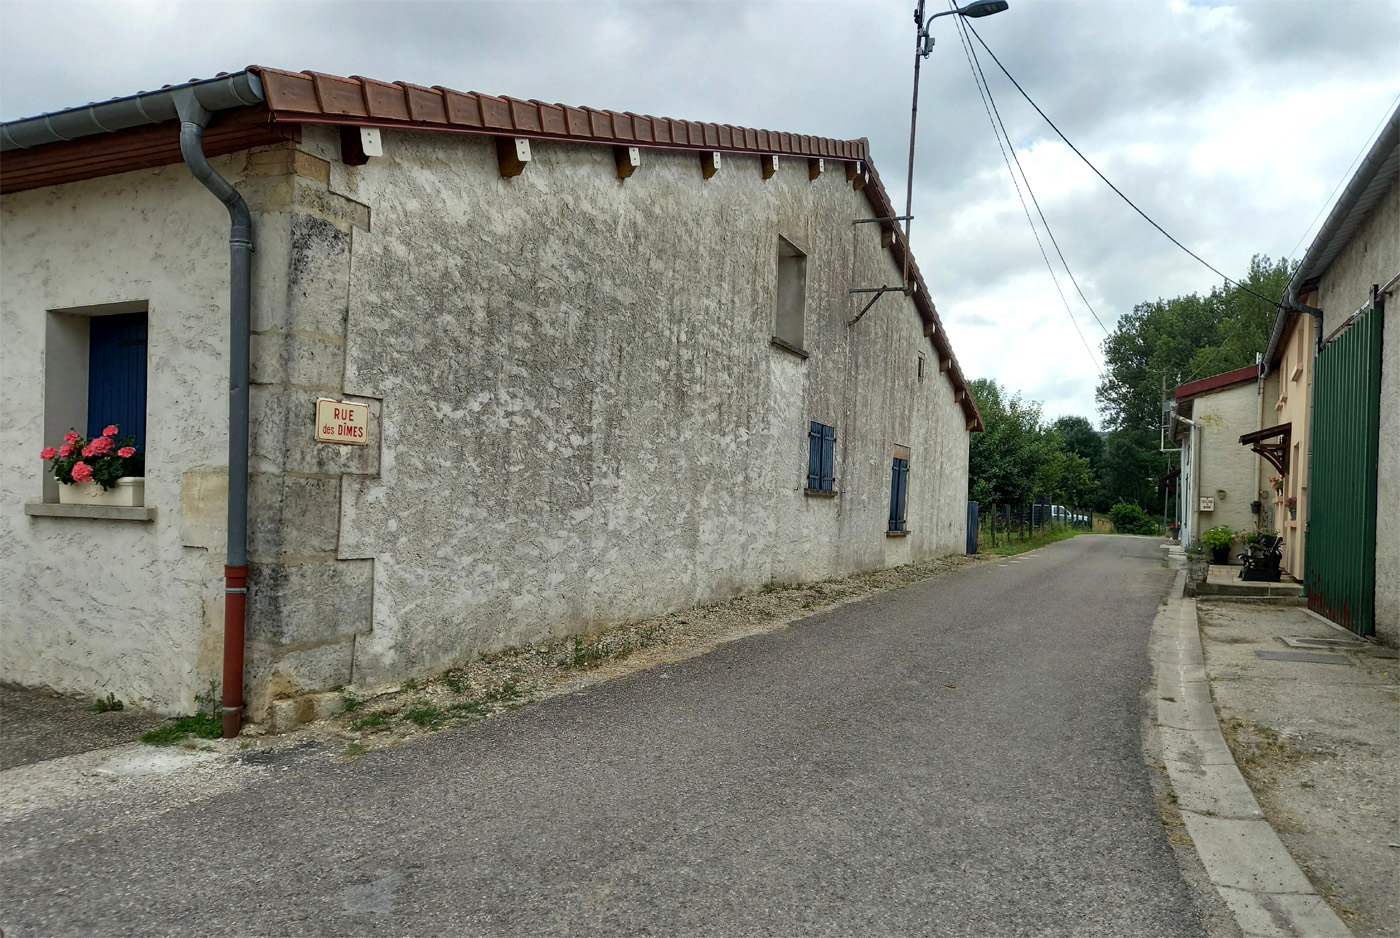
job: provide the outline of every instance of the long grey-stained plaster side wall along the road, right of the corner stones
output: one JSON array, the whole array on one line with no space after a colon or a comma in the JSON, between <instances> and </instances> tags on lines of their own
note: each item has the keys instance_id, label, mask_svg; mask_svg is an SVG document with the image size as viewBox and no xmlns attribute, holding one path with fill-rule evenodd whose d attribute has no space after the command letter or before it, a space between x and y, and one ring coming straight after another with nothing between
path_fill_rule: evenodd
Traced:
<instances>
[{"instance_id":1,"label":"long grey-stained plaster side wall along the road, right of the corner stones","mask_svg":"<svg viewBox=\"0 0 1400 938\"><path fill-rule=\"evenodd\" d=\"M315 139L308 140L315 147ZM329 144L328 144L329 146ZM353 232L344 389L382 399L377 479L342 491L342 557L374 559L354 680L965 546L967 433L839 162L386 133L332 167ZM770 344L778 238L808 255L806 360ZM917 379L918 356L925 377ZM802 493L808 423L836 498ZM886 538L893 447L909 538Z\"/></svg>"}]
</instances>

